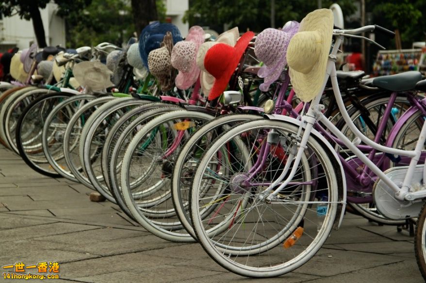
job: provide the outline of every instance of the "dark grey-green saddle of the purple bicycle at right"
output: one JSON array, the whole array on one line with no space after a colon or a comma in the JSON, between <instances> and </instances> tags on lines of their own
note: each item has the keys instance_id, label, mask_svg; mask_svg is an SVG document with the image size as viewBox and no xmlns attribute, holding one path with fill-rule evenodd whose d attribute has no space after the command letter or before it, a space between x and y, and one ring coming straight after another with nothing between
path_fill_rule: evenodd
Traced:
<instances>
[{"instance_id":1,"label":"dark grey-green saddle of the purple bicycle at right","mask_svg":"<svg viewBox=\"0 0 426 283\"><path fill-rule=\"evenodd\" d=\"M401 74L379 76L373 79L372 85L391 91L405 91L414 89L422 74L417 71L409 71Z\"/></svg>"}]
</instances>

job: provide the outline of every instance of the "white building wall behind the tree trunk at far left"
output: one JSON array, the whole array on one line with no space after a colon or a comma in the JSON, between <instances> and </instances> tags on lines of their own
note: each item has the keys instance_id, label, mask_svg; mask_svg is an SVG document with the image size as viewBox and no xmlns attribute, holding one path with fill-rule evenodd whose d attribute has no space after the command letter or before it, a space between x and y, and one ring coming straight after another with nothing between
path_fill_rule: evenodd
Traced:
<instances>
[{"instance_id":1,"label":"white building wall behind the tree trunk at far left","mask_svg":"<svg viewBox=\"0 0 426 283\"><path fill-rule=\"evenodd\" d=\"M65 46L65 21L56 15L57 5L49 3L40 10L47 45ZM1 45L16 45L19 49L28 48L36 43L33 21L20 19L19 15L4 17L0 33Z\"/></svg>"}]
</instances>

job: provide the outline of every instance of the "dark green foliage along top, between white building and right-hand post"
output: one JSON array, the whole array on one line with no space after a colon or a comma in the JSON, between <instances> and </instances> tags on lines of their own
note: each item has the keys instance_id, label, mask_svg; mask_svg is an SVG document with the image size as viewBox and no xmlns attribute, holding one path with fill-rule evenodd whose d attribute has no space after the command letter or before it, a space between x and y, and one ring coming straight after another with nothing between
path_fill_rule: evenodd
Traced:
<instances>
[{"instance_id":1,"label":"dark green foliage along top, between white building and right-hand post","mask_svg":"<svg viewBox=\"0 0 426 283\"><path fill-rule=\"evenodd\" d=\"M350 15L355 11L353 0L322 0L323 7L337 2ZM317 0L275 0L276 26L289 20L300 21L306 14L318 8ZM271 0L190 0L184 21L190 26L210 26L218 31L223 24L238 26L240 30L262 31L271 25Z\"/></svg>"}]
</instances>

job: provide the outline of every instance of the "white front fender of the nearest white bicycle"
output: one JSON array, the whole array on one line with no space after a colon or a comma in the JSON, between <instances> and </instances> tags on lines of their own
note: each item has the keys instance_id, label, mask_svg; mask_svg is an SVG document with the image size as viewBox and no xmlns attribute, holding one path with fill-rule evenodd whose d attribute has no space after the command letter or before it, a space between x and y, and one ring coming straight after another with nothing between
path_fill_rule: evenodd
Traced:
<instances>
[{"instance_id":1,"label":"white front fender of the nearest white bicycle","mask_svg":"<svg viewBox=\"0 0 426 283\"><path fill-rule=\"evenodd\" d=\"M302 121L301 120L297 120L294 118L291 118L289 116L284 116L284 115L275 115L275 114L265 114L263 115L264 118L266 119L270 119L270 120L279 120L279 121L284 121L290 124L293 124L297 127L302 126L303 128L304 125L302 125ZM333 160L339 164L339 168L340 168L340 180L338 180L338 196L339 196L339 204L337 206L337 215L340 214L340 217L336 217L336 219L334 220L333 223L333 229L338 230L340 225L342 224L343 221L343 217L344 217L344 210L346 208L346 179L344 178L344 171L343 171L343 166L342 163L340 162L339 156L336 153L336 150L330 145L330 143L328 142L328 140L322 135L320 134L317 130L312 129L311 134L319 141L321 141L324 146L326 146L328 148L328 150L332 153L331 156L329 156L330 158L333 158Z\"/></svg>"}]
</instances>

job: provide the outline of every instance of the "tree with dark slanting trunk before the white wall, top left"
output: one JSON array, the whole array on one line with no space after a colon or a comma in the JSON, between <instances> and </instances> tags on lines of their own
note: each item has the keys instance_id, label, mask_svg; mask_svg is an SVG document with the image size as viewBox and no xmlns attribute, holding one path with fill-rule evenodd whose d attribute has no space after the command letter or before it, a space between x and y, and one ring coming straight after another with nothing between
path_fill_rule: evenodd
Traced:
<instances>
[{"instance_id":1,"label":"tree with dark slanting trunk before the white wall, top left","mask_svg":"<svg viewBox=\"0 0 426 283\"><path fill-rule=\"evenodd\" d=\"M91 0L54 0L59 7L60 15L67 15L70 10L84 8ZM40 10L46 8L50 0L0 0L0 13L4 16L15 15L26 20L33 20L35 38L39 47L45 47L46 36Z\"/></svg>"}]
</instances>

